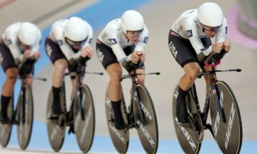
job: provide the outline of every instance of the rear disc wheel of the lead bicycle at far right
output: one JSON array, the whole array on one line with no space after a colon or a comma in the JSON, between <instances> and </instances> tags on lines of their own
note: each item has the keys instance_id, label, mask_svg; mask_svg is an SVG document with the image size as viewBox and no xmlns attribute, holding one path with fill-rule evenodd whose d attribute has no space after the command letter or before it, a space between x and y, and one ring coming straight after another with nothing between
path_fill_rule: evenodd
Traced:
<instances>
[{"instance_id":1,"label":"rear disc wheel of the lead bicycle at far right","mask_svg":"<svg viewBox=\"0 0 257 154\"><path fill-rule=\"evenodd\" d=\"M201 149L201 142L197 142L197 140L195 140L194 138L191 137L190 134L192 132L189 132L188 129L185 129L184 127L180 127L180 125L178 124L178 118L176 116L176 110L175 110L176 100L178 97L178 87L179 86L177 85L173 92L173 102L172 102L172 114L173 114L173 123L174 123L174 127L175 127L175 133L177 135L178 141L180 142L180 146L181 146L182 150L184 151L184 153L197 154L197 153L199 153L199 151ZM189 102L191 102L191 103L189 103ZM195 112L193 111L193 109L195 109L195 107L193 107L193 105L191 106L191 104L194 103L191 94L187 95L186 103L187 103L187 105L190 104L190 106L188 105L188 110L190 109L191 112L196 113L196 110L195 110Z\"/></svg>"}]
</instances>

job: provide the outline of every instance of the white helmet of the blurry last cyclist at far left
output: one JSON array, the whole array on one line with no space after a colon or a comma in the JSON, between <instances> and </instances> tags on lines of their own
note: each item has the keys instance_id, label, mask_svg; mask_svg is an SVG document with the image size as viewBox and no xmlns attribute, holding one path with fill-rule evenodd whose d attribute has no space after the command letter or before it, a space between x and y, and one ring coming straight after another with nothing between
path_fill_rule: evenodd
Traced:
<instances>
[{"instance_id":1,"label":"white helmet of the blurry last cyclist at far left","mask_svg":"<svg viewBox=\"0 0 257 154\"><path fill-rule=\"evenodd\" d=\"M22 23L18 31L19 40L28 46L36 44L38 38L38 27L33 23Z\"/></svg>"}]
</instances>

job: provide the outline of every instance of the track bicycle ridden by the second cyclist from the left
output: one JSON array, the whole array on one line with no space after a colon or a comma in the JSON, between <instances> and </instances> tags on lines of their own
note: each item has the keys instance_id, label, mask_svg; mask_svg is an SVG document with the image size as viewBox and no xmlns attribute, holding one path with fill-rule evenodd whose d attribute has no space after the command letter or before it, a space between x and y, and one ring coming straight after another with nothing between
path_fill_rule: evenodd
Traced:
<instances>
[{"instance_id":1,"label":"track bicycle ridden by the second cyclist from the left","mask_svg":"<svg viewBox=\"0 0 257 154\"><path fill-rule=\"evenodd\" d=\"M69 128L69 134L75 133L79 149L87 153L93 143L95 134L95 107L92 92L90 88L83 84L85 66L78 66L76 71L76 88L72 94L69 111L66 110L65 81L62 82L60 90L60 105L63 114L57 118L51 118L51 105L53 103L52 90L49 92L47 101L47 133L51 148L53 151L60 151L65 138L66 127ZM103 73L92 73L103 75ZM64 76L70 75L65 73Z\"/></svg>"}]
</instances>

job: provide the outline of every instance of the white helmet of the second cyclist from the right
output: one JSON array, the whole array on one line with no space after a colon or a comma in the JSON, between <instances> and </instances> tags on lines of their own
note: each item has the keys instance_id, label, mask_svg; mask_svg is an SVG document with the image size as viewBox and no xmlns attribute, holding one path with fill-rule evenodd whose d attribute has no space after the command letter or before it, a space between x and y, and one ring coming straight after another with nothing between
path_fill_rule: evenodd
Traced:
<instances>
[{"instance_id":1,"label":"white helmet of the second cyclist from the right","mask_svg":"<svg viewBox=\"0 0 257 154\"><path fill-rule=\"evenodd\" d=\"M121 28L126 34L127 31L140 31L143 30L145 22L143 16L134 10L128 10L121 16Z\"/></svg>"}]
</instances>

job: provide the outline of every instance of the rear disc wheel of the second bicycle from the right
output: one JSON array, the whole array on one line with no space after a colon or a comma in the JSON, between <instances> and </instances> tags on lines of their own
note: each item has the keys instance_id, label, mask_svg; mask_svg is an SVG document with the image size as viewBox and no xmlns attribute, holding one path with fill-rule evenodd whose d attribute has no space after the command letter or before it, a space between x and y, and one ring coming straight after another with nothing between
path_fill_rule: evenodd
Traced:
<instances>
[{"instance_id":1,"label":"rear disc wheel of the second bicycle from the right","mask_svg":"<svg viewBox=\"0 0 257 154\"><path fill-rule=\"evenodd\" d=\"M123 116L127 116L127 112L124 110L124 98L122 98L121 100L121 113L123 114ZM119 153L126 153L130 141L130 131L127 127L121 130L115 128L114 112L112 110L112 104L110 102L108 92L106 92L106 118L110 137L112 138L112 143L114 144L115 149ZM125 121L125 123L127 123L127 121Z\"/></svg>"}]
</instances>

